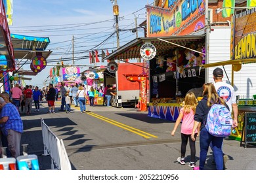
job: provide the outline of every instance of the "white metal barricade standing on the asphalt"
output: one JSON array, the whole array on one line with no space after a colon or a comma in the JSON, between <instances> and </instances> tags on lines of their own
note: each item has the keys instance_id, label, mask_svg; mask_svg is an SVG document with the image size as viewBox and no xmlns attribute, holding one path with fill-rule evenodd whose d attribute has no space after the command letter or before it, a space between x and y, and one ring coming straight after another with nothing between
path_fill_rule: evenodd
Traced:
<instances>
[{"instance_id":1,"label":"white metal barricade standing on the asphalt","mask_svg":"<svg viewBox=\"0 0 256 183\"><path fill-rule=\"evenodd\" d=\"M70 160L62 140L58 139L41 118L43 146L45 156L51 156L51 169L71 170Z\"/></svg>"}]
</instances>

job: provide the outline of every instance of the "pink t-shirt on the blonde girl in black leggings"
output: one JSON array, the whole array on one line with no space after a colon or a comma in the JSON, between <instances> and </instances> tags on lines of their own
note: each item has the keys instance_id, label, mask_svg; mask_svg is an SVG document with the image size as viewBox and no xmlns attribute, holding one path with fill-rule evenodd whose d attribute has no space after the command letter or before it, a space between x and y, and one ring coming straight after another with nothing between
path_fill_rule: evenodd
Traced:
<instances>
[{"instance_id":1,"label":"pink t-shirt on the blonde girl in black leggings","mask_svg":"<svg viewBox=\"0 0 256 183\"><path fill-rule=\"evenodd\" d=\"M192 109L190 109L190 112L185 114L184 107L182 107L180 112L183 113L182 124L181 124L181 133L186 134L186 135L191 135L192 129L194 127L194 111ZM197 129L196 129L195 133L198 133Z\"/></svg>"}]
</instances>

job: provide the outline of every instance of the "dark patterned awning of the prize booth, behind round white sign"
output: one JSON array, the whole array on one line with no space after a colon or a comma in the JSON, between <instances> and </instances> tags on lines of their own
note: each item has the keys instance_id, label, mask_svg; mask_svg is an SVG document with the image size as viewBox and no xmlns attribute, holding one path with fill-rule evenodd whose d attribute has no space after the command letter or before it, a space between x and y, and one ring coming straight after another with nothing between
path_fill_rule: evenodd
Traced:
<instances>
[{"instance_id":1,"label":"dark patterned awning of the prize booth, behind round white sign","mask_svg":"<svg viewBox=\"0 0 256 183\"><path fill-rule=\"evenodd\" d=\"M164 39L166 41L171 41L182 46L186 44L191 44L191 42L201 41L205 39L205 35L186 35L186 36L172 36L172 37L143 37L134 39L131 42L121 46L115 52L112 52L110 55L104 57L103 59L136 59L141 58L140 56L140 47L145 42L151 42L156 46L156 54L161 55L165 54L167 50L172 48L177 48L173 44L163 42L158 40L158 38Z\"/></svg>"}]
</instances>

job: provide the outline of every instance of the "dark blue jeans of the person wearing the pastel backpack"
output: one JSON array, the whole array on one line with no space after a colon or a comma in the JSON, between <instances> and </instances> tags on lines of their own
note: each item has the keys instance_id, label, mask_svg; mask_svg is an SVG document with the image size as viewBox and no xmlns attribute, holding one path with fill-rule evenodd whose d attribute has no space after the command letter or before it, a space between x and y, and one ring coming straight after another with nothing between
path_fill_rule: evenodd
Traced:
<instances>
[{"instance_id":1,"label":"dark blue jeans of the person wearing the pastel backpack","mask_svg":"<svg viewBox=\"0 0 256 183\"><path fill-rule=\"evenodd\" d=\"M209 144L213 144L213 154L217 170L223 170L223 151L221 146L223 144L223 137L214 137L209 134L207 129L203 127L200 131L200 170L203 170L207 157Z\"/></svg>"}]
</instances>

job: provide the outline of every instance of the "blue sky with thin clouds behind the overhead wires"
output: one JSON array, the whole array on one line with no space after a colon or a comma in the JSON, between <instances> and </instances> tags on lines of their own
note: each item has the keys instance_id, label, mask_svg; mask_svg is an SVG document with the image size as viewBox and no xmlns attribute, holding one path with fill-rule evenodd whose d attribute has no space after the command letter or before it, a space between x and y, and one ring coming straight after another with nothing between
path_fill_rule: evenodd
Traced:
<instances>
[{"instance_id":1,"label":"blue sky with thin clouds behind the overhead wires","mask_svg":"<svg viewBox=\"0 0 256 183\"><path fill-rule=\"evenodd\" d=\"M153 2L154 0L117 0L120 17L119 29L123 30L120 32L120 46L136 38L135 33L129 30L135 27L135 16L138 18L138 24L146 20L146 8L144 7ZM72 57L73 35L77 58L88 56L88 52L81 52L95 46L99 54L101 49L110 48L108 51L111 52L116 48L116 35L105 41L115 31L113 7L110 0L14 0L13 25L9 28L11 33L15 34L49 37L51 43L47 50L53 50L53 54L48 58L49 61ZM140 29L139 37L143 36L143 30ZM105 41L104 44L97 46L102 41ZM71 64L72 61L64 63ZM24 69L28 69L29 64L24 66ZM89 64L89 59L77 60L75 64ZM41 88L50 69L51 67L47 67L37 76L30 76L32 80L26 80L26 84ZM85 69L87 67L81 70Z\"/></svg>"}]
</instances>

